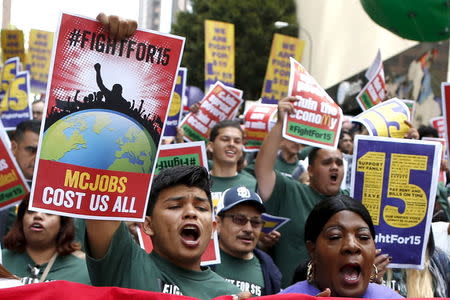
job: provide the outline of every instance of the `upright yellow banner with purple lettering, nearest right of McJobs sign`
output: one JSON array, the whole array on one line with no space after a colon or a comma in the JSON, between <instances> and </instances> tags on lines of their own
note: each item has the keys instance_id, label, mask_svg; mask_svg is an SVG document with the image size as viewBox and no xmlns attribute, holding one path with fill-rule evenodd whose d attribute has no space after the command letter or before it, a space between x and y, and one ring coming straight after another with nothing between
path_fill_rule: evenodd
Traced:
<instances>
[{"instance_id":1,"label":"upright yellow banner with purple lettering, nearest right of McJobs sign","mask_svg":"<svg viewBox=\"0 0 450 300\"><path fill-rule=\"evenodd\" d=\"M205 20L205 91L220 81L234 86L234 24Z\"/></svg>"}]
</instances>

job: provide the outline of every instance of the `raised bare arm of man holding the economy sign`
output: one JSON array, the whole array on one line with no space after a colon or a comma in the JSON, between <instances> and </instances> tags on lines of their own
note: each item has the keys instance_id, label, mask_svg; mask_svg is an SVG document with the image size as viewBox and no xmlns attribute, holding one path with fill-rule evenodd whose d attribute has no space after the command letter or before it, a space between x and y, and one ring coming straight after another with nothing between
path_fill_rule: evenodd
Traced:
<instances>
[{"instance_id":1,"label":"raised bare arm of man holding the economy sign","mask_svg":"<svg viewBox=\"0 0 450 300\"><path fill-rule=\"evenodd\" d=\"M255 174L258 181L258 193L263 201L267 201L275 186L275 172L273 170L277 158L278 147L282 141L281 131L286 113L292 113L292 102L295 97L286 97L278 102L278 120L265 138L258 156L256 157Z\"/></svg>"}]
</instances>

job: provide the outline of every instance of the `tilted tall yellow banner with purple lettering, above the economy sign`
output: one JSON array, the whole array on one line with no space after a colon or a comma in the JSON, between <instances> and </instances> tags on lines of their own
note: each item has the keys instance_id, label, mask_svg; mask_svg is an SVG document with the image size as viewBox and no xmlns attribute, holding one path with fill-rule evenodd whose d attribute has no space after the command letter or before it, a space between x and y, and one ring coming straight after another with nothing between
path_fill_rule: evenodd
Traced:
<instances>
[{"instance_id":1,"label":"tilted tall yellow banner with purple lettering, above the economy sign","mask_svg":"<svg viewBox=\"0 0 450 300\"><path fill-rule=\"evenodd\" d=\"M273 35L261 93L262 103L277 104L278 100L287 96L291 65L289 58L301 61L304 47L304 40L279 33Z\"/></svg>"}]
</instances>

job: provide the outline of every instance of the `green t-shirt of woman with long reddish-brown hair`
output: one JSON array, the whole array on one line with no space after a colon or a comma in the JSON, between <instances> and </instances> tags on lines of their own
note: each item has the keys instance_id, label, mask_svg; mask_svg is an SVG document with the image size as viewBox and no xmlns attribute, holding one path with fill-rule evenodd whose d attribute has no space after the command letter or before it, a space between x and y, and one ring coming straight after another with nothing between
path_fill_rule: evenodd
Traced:
<instances>
[{"instance_id":1,"label":"green t-shirt of woman with long reddish-brown hair","mask_svg":"<svg viewBox=\"0 0 450 300\"><path fill-rule=\"evenodd\" d=\"M14 275L22 278L23 282L29 282L27 278L32 277L30 268L28 265L39 269L38 279L41 278L44 273L47 264L37 266L31 259L27 252L17 253L8 249L2 250L3 266L8 269ZM67 280L84 284L91 284L89 280L89 274L86 267L86 261L82 258L76 257L73 254L60 256L56 258L53 263L50 272L48 273L45 281L51 280Z\"/></svg>"}]
</instances>

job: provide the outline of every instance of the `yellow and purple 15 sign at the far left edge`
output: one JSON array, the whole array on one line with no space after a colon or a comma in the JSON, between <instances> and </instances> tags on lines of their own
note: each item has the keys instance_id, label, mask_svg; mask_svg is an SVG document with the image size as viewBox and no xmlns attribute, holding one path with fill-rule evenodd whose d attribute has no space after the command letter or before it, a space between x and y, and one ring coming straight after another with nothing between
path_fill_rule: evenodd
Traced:
<instances>
[{"instance_id":1,"label":"yellow and purple 15 sign at the far left edge","mask_svg":"<svg viewBox=\"0 0 450 300\"><path fill-rule=\"evenodd\" d=\"M2 71L0 112L3 126L14 130L22 121L31 119L29 105L30 74L20 71L18 57L8 59Z\"/></svg>"}]
</instances>

